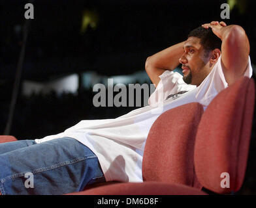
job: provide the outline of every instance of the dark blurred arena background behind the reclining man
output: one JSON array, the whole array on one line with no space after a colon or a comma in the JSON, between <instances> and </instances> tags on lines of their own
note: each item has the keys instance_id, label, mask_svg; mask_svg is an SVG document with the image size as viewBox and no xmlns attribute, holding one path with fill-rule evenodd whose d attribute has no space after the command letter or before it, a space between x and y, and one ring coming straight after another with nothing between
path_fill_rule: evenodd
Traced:
<instances>
[{"instance_id":1,"label":"dark blurred arena background behind the reclining man","mask_svg":"<svg viewBox=\"0 0 256 208\"><path fill-rule=\"evenodd\" d=\"M24 17L27 3L34 6L34 19ZM221 19L222 3L230 5L229 19ZM255 79L255 6L249 0L0 1L1 135L42 138L80 120L116 118L147 105L142 92L140 105L128 105L127 99L126 107L110 107L108 102L95 107L93 86L106 85L109 78L114 85L150 85L144 68L147 57L186 40L189 31L210 21L245 29ZM246 177L238 194L256 194L255 118Z\"/></svg>"}]
</instances>

